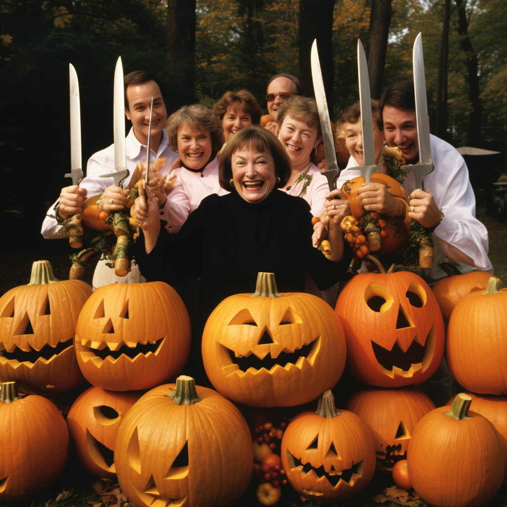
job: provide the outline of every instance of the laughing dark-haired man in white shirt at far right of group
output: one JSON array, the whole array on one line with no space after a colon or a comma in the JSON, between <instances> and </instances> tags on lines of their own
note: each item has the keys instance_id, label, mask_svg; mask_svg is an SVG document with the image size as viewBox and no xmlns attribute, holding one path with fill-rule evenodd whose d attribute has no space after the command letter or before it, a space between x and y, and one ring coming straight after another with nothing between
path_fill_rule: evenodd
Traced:
<instances>
[{"instance_id":1,"label":"laughing dark-haired man in white shirt at far right of group","mask_svg":"<svg viewBox=\"0 0 507 507\"><path fill-rule=\"evenodd\" d=\"M387 88L380 100L380 114L389 146L397 147L407 164L416 164L419 142L414 83L402 81ZM476 200L465 161L451 144L434 135L430 135L430 145L434 170L424 178L426 192L415 188L412 171L403 184L411 199L409 216L433 229L436 259L427 275L445 276L438 267L445 256L458 264L462 273L490 271L488 232L475 216ZM373 203L375 198L370 200Z\"/></svg>"}]
</instances>

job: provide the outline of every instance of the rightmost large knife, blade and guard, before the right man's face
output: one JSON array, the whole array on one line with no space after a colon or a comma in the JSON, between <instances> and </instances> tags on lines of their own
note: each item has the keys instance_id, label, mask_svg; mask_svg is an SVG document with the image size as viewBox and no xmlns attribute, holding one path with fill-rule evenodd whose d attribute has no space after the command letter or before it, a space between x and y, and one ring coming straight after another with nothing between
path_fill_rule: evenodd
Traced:
<instances>
[{"instance_id":1,"label":"rightmost large knife, blade and guard, before the right man's face","mask_svg":"<svg viewBox=\"0 0 507 507\"><path fill-rule=\"evenodd\" d=\"M415 165L404 165L402 169L412 171L415 177L415 188L424 190L422 181L435 166L431 160L429 143L428 103L426 99L426 79L424 77L424 59L422 55L422 36L417 35L412 53L414 67L415 112L417 118L417 139L419 141L419 162Z\"/></svg>"}]
</instances>

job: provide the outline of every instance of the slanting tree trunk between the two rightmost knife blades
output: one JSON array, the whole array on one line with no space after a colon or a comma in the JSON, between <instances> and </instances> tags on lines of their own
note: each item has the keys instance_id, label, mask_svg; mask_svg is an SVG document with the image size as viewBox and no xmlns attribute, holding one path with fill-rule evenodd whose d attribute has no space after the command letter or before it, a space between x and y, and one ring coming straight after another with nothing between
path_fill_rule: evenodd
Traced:
<instances>
[{"instance_id":1,"label":"slanting tree trunk between the two rightmost knife blades","mask_svg":"<svg viewBox=\"0 0 507 507\"><path fill-rule=\"evenodd\" d=\"M368 30L368 74L370 94L372 98L376 99L380 99L382 94L391 14L391 0L372 0L370 28Z\"/></svg>"}]
</instances>

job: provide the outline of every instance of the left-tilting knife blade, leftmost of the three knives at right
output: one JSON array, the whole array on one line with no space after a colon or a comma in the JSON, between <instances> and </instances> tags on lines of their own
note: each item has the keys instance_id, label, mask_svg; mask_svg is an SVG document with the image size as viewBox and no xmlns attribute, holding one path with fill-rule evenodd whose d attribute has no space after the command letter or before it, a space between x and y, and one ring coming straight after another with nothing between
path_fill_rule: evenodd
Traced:
<instances>
[{"instance_id":1,"label":"left-tilting knife blade, leftmost of the three knives at right","mask_svg":"<svg viewBox=\"0 0 507 507\"><path fill-rule=\"evenodd\" d=\"M336 180L340 171L336 162L335 142L333 131L331 130L331 120L329 118L328 101L325 98L324 81L320 70L318 59L317 39L313 41L311 51L311 67L313 89L315 90L315 100L317 101L318 116L320 120L320 129L322 131L322 142L324 143L325 159L328 162L328 171L322 174L328 178L329 189L336 189Z\"/></svg>"}]
</instances>

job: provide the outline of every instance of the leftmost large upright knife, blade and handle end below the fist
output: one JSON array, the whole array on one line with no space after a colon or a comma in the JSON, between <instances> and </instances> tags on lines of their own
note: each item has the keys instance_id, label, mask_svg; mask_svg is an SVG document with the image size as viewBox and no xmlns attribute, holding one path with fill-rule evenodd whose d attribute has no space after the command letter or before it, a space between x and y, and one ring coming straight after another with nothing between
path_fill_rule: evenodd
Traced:
<instances>
[{"instance_id":1,"label":"leftmost large upright knife, blade and handle end below the fist","mask_svg":"<svg viewBox=\"0 0 507 507\"><path fill-rule=\"evenodd\" d=\"M81 163L81 108L79 104L79 82L76 69L73 64L68 64L69 91L70 91L70 172L66 178L72 178L73 185L79 185L83 179ZM70 226L69 243L73 248L83 246L83 227L81 226L81 214L74 215L73 224Z\"/></svg>"}]
</instances>

